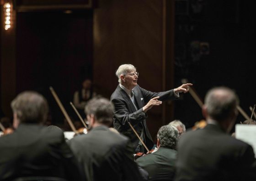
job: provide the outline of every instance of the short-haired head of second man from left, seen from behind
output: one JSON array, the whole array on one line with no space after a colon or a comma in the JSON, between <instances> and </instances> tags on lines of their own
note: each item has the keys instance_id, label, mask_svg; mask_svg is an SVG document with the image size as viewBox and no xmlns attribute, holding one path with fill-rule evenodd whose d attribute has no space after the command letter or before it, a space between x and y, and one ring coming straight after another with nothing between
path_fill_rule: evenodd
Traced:
<instances>
[{"instance_id":1,"label":"short-haired head of second man from left, seen from behind","mask_svg":"<svg viewBox=\"0 0 256 181\"><path fill-rule=\"evenodd\" d=\"M110 126L113 123L114 106L107 98L92 98L85 106L85 114L93 114L96 122Z\"/></svg>"}]
</instances>

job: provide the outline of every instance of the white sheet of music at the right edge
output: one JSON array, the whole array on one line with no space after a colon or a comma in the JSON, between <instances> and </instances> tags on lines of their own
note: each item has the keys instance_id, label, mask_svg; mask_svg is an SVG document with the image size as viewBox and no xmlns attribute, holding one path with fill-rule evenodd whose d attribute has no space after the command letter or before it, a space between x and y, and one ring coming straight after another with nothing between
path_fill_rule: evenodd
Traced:
<instances>
[{"instance_id":1,"label":"white sheet of music at the right edge","mask_svg":"<svg viewBox=\"0 0 256 181\"><path fill-rule=\"evenodd\" d=\"M235 124L235 138L252 146L256 156L256 125Z\"/></svg>"}]
</instances>

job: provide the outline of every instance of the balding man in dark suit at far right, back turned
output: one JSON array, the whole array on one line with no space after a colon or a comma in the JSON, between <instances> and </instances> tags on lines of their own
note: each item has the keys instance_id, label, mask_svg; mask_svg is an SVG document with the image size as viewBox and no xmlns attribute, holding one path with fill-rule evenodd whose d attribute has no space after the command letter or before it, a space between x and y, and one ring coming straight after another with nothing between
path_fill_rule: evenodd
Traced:
<instances>
[{"instance_id":1,"label":"balding man in dark suit at far right, back turned","mask_svg":"<svg viewBox=\"0 0 256 181\"><path fill-rule=\"evenodd\" d=\"M238 104L238 97L230 88L208 91L202 108L206 127L187 132L179 140L176 181L256 180L251 145L228 134L235 123Z\"/></svg>"}]
</instances>

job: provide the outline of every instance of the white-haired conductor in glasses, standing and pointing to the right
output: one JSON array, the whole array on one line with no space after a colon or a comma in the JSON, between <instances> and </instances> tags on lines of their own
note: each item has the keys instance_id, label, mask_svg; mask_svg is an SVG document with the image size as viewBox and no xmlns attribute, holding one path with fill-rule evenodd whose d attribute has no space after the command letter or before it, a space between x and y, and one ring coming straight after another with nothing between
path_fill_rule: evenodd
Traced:
<instances>
[{"instance_id":1,"label":"white-haired conductor in glasses, standing and pointing to the right","mask_svg":"<svg viewBox=\"0 0 256 181\"><path fill-rule=\"evenodd\" d=\"M111 101L115 106L114 128L130 138L135 152L146 152L128 123L134 127L141 140L151 149L154 143L146 125L146 112L154 106L159 106L162 101L177 99L179 93L187 93L192 84L186 83L169 91L153 93L137 84L139 72L131 64L119 66L116 76L119 84L111 96Z\"/></svg>"}]
</instances>

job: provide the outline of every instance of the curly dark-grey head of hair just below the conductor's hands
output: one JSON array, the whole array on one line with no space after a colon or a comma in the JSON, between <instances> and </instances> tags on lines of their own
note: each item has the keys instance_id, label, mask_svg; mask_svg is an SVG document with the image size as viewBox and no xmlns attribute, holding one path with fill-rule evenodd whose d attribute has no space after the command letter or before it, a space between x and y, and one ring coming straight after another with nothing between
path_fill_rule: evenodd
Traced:
<instances>
[{"instance_id":1,"label":"curly dark-grey head of hair just below the conductor's hands","mask_svg":"<svg viewBox=\"0 0 256 181\"><path fill-rule=\"evenodd\" d=\"M179 132L174 126L162 126L157 133L161 147L176 148L177 140L179 139Z\"/></svg>"}]
</instances>

